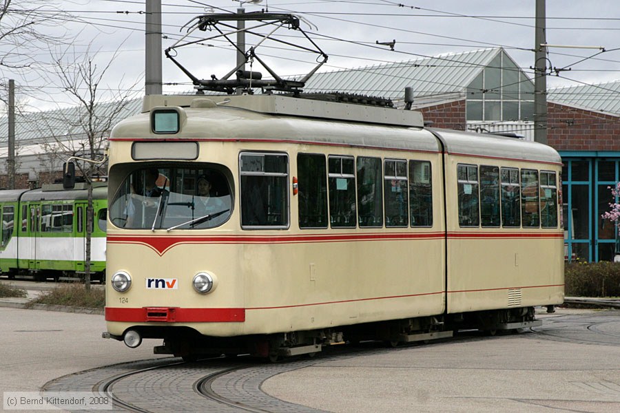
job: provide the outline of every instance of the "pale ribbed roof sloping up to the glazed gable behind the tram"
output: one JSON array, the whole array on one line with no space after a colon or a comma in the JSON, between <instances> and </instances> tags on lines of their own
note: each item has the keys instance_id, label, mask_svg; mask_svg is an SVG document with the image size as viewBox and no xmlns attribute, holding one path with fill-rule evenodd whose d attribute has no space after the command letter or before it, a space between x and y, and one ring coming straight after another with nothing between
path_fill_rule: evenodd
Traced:
<instances>
[{"instance_id":1,"label":"pale ribbed roof sloping up to the glazed gable behind the tram","mask_svg":"<svg viewBox=\"0 0 620 413\"><path fill-rule=\"evenodd\" d=\"M440 54L433 57L314 74L304 92L349 92L401 99L404 88L416 97L462 93L501 48Z\"/></svg>"}]
</instances>

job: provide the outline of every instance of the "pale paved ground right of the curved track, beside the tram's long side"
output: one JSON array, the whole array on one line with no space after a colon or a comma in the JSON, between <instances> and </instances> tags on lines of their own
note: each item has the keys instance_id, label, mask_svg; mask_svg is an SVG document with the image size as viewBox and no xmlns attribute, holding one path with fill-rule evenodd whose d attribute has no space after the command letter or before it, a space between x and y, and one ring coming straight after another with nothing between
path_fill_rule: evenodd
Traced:
<instances>
[{"instance_id":1,"label":"pale paved ground right of the curved track, beside the tram's long side","mask_svg":"<svg viewBox=\"0 0 620 413\"><path fill-rule=\"evenodd\" d=\"M558 322L566 313L574 312L559 310ZM601 327L614 334L612 342L586 343L583 324L586 334L575 330L573 338L530 332L448 341L317 363L267 379L261 388L331 412L620 412L615 313L608 317L612 330Z\"/></svg>"}]
</instances>

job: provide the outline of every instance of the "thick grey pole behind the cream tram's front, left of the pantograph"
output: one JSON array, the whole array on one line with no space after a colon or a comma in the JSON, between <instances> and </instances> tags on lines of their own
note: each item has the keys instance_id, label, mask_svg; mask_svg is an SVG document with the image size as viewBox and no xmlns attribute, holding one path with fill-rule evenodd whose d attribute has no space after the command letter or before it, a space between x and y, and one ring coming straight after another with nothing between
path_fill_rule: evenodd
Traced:
<instances>
[{"instance_id":1,"label":"thick grey pole behind the cream tram's front, left of the pantograph","mask_svg":"<svg viewBox=\"0 0 620 413\"><path fill-rule=\"evenodd\" d=\"M161 94L161 0L146 0L145 94Z\"/></svg>"}]
</instances>

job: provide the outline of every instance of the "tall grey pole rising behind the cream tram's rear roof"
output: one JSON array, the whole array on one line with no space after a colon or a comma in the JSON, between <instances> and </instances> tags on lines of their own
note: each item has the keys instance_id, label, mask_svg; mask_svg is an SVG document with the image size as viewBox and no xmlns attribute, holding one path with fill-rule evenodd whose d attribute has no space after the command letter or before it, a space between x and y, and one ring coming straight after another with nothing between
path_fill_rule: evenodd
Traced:
<instances>
[{"instance_id":1,"label":"tall grey pole rising behind the cream tram's rear roof","mask_svg":"<svg viewBox=\"0 0 620 413\"><path fill-rule=\"evenodd\" d=\"M534 140L547 143L547 48L545 0L536 0L534 62Z\"/></svg>"}]
</instances>

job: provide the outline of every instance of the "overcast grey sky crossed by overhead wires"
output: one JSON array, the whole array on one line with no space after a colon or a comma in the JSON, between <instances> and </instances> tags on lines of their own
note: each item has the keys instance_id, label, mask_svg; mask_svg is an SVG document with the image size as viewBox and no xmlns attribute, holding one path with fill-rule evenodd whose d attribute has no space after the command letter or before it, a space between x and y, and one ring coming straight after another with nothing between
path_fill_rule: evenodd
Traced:
<instances>
[{"instance_id":1,"label":"overcast grey sky crossed by overhead wires","mask_svg":"<svg viewBox=\"0 0 620 413\"><path fill-rule=\"evenodd\" d=\"M90 43L91 52L98 52L94 59L99 65L104 65L116 50L120 50L105 78L107 87L127 88L137 81L137 87L133 88L136 96L143 94L145 2L65 0L58 4L76 17L74 22L63 24L64 30L76 36L73 42L76 59ZM247 12L268 8L269 12L294 13L302 17L307 22L302 23L302 28L329 56L321 72L504 47L517 65L532 77L535 0L406 0L403 3L386 0L263 0L257 5L245 3L243 6ZM193 17L211 10L234 12L238 7L238 1L231 0L163 0L162 23L167 38L163 39L163 48L173 45L185 34L180 28ZM570 71L549 76L548 87L620 79L620 1L547 0L546 14L547 43L601 46L606 50L601 53L595 49L551 48L548 65L570 68ZM277 33L283 35L280 39L311 47L311 43L299 38L298 32L280 30ZM198 31L188 39L209 35L211 33ZM377 41L392 40L396 41L394 51L376 44ZM210 78L211 74L219 78L234 67L233 49L221 41L207 43L210 46L180 48L178 61L198 78ZM316 64L316 56L309 52L273 46L276 45L265 43L257 53L281 76L303 74ZM46 70L48 55L45 51L41 51L37 61L41 62L37 70ZM15 78L18 85L39 87L44 100L68 102L54 85L35 74L23 78L7 68L0 70L3 85L8 78ZM163 82L177 83L164 85L164 92L192 90L187 76L165 56ZM37 106L31 98L29 103L32 107Z\"/></svg>"}]
</instances>

